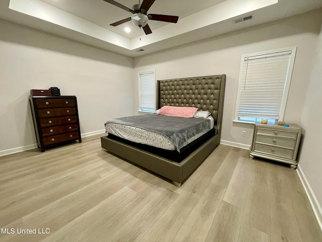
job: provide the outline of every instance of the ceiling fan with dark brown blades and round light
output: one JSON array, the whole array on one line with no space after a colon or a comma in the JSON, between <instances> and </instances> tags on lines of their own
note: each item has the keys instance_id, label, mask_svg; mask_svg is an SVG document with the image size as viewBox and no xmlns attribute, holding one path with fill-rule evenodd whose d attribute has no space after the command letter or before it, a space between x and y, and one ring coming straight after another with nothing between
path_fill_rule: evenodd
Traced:
<instances>
[{"instance_id":1,"label":"ceiling fan with dark brown blades and round light","mask_svg":"<svg viewBox=\"0 0 322 242\"><path fill-rule=\"evenodd\" d=\"M155 20L155 21L163 21L163 22L169 22L169 23L177 23L179 17L178 16L172 16L172 15L162 15L162 14L147 14L147 11L152 6L155 0L143 0L142 4L135 4L133 5L132 9L129 9L125 7L124 5L121 5L113 0L103 0L109 4L112 4L116 7L119 7L125 11L128 11L132 13L132 17L117 21L113 24L110 24L111 26L118 26L120 24L126 23L128 21L133 22L134 25L138 27L142 27L145 34L152 33L149 25L147 24L148 20Z\"/></svg>"}]
</instances>

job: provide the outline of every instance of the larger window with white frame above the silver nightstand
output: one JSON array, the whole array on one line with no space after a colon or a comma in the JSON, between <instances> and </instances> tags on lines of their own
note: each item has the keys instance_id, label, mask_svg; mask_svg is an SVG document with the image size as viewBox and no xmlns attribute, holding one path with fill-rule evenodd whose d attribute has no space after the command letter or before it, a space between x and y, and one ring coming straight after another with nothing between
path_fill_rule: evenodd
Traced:
<instances>
[{"instance_id":1,"label":"larger window with white frame above the silver nightstand","mask_svg":"<svg viewBox=\"0 0 322 242\"><path fill-rule=\"evenodd\" d=\"M235 121L283 120L296 47L241 57Z\"/></svg>"}]
</instances>

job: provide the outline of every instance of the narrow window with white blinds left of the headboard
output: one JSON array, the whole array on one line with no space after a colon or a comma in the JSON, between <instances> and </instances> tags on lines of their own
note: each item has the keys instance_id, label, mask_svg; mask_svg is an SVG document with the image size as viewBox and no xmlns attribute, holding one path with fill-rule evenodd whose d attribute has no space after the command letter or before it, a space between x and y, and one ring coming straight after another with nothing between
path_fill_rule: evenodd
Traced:
<instances>
[{"instance_id":1,"label":"narrow window with white blinds left of the headboard","mask_svg":"<svg viewBox=\"0 0 322 242\"><path fill-rule=\"evenodd\" d=\"M155 71L139 72L139 111L153 112L155 107Z\"/></svg>"}]
</instances>

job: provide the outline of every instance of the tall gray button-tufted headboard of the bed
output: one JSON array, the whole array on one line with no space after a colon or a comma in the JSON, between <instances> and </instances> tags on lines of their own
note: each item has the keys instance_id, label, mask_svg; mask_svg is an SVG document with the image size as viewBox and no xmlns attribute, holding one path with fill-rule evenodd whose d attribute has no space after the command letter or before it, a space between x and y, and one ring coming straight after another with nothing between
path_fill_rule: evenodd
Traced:
<instances>
[{"instance_id":1,"label":"tall gray button-tufted headboard of the bed","mask_svg":"<svg viewBox=\"0 0 322 242\"><path fill-rule=\"evenodd\" d=\"M209 111L220 133L225 82L225 74L158 80L156 107L189 106Z\"/></svg>"}]
</instances>

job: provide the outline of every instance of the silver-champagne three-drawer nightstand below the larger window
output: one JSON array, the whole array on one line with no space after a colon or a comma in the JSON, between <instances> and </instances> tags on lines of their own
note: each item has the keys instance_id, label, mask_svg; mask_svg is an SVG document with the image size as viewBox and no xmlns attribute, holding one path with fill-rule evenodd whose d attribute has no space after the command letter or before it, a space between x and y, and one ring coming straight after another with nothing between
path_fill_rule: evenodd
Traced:
<instances>
[{"instance_id":1,"label":"silver-champagne three-drawer nightstand below the larger window","mask_svg":"<svg viewBox=\"0 0 322 242\"><path fill-rule=\"evenodd\" d=\"M290 164L297 167L297 152L301 138L301 127L277 124L255 124L250 158L254 156Z\"/></svg>"}]
</instances>

